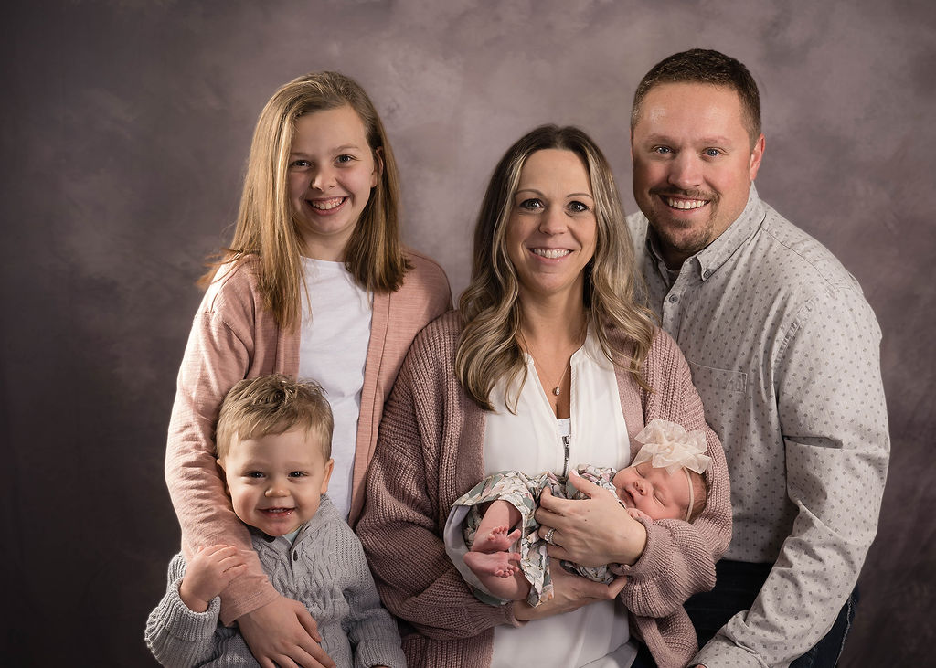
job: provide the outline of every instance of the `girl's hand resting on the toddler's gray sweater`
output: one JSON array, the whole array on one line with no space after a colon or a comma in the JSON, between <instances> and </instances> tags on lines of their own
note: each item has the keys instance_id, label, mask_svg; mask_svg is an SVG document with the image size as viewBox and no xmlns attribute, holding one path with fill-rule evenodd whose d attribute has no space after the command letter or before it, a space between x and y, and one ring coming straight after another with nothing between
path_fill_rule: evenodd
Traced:
<instances>
[{"instance_id":1,"label":"girl's hand resting on the toddler's gray sweater","mask_svg":"<svg viewBox=\"0 0 936 668\"><path fill-rule=\"evenodd\" d=\"M305 606L280 596L240 617L241 635L263 668L334 668Z\"/></svg>"}]
</instances>

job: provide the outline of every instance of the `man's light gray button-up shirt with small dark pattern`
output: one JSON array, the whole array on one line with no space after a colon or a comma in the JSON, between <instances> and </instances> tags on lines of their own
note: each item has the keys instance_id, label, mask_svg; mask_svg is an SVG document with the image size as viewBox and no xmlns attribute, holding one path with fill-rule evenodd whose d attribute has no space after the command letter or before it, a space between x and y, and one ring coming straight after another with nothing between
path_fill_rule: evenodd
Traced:
<instances>
[{"instance_id":1,"label":"man's light gray button-up shirt with small dark pattern","mask_svg":"<svg viewBox=\"0 0 936 668\"><path fill-rule=\"evenodd\" d=\"M738 220L675 279L647 218L628 225L651 307L724 444L725 559L776 563L752 609L695 660L785 665L826 634L877 530L890 451L881 329L855 278L753 185Z\"/></svg>"}]
</instances>

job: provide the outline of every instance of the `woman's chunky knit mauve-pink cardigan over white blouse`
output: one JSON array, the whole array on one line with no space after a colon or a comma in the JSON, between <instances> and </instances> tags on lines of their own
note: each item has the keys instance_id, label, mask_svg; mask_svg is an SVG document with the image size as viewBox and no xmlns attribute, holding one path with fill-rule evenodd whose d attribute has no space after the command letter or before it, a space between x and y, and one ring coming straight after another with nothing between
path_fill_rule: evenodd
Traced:
<instances>
[{"instance_id":1,"label":"woman's chunky knit mauve-pink cardigan over white blouse","mask_svg":"<svg viewBox=\"0 0 936 668\"><path fill-rule=\"evenodd\" d=\"M454 373L460 331L458 312L446 313L420 333L403 362L385 406L357 529L381 598L415 630L403 639L411 666L488 668L493 627L520 623L512 604L475 599L440 537L452 501L484 476L485 414ZM626 345L620 336L611 341ZM705 423L688 365L665 332L657 331L644 365L653 392L640 389L629 373L617 375L634 445L636 433L657 417L705 429L708 437L713 461L705 512L693 524L646 524L647 547L625 567L621 594L657 663L684 665L696 646L682 603L714 586L715 561L731 538L724 452Z\"/></svg>"}]
</instances>

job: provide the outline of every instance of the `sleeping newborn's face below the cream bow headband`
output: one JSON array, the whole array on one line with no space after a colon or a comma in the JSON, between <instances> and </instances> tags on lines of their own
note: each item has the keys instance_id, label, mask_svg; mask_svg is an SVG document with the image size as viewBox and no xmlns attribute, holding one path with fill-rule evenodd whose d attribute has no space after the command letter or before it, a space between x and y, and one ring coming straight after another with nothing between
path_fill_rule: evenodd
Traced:
<instances>
[{"instance_id":1,"label":"sleeping newborn's face below the cream bow headband","mask_svg":"<svg viewBox=\"0 0 936 668\"><path fill-rule=\"evenodd\" d=\"M627 508L652 519L685 519L689 508L689 480L681 469L670 474L654 469L649 461L617 472L611 484Z\"/></svg>"}]
</instances>

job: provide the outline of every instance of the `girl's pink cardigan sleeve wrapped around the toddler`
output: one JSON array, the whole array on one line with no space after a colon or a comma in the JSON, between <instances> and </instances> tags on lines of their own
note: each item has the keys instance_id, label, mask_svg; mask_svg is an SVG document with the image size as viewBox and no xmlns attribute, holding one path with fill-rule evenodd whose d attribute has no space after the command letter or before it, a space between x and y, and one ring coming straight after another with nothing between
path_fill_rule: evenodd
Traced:
<instances>
[{"instance_id":1,"label":"girl's pink cardigan sleeve wrapped around the toddler","mask_svg":"<svg viewBox=\"0 0 936 668\"><path fill-rule=\"evenodd\" d=\"M220 289L237 292L233 284L212 285L185 348L169 420L166 482L186 558L201 545L226 543L241 548L248 560L247 573L221 595L221 619L230 624L278 594L260 567L250 534L234 515L215 464L214 421L227 391L250 370L255 337L248 323L258 307L249 290L226 298L218 295Z\"/></svg>"}]
</instances>

